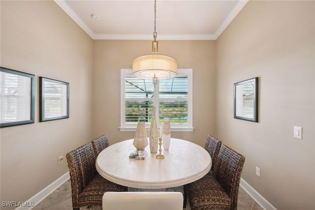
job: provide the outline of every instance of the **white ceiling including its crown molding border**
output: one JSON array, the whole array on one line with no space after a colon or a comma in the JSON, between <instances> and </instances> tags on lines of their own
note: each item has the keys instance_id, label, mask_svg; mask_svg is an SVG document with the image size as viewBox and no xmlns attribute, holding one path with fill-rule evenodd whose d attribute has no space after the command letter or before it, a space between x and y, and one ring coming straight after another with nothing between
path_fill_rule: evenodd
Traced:
<instances>
[{"instance_id":1,"label":"white ceiling including its crown molding border","mask_svg":"<svg viewBox=\"0 0 315 210\"><path fill-rule=\"evenodd\" d=\"M154 0L55 2L93 39L153 39ZM157 39L215 40L247 2L157 0Z\"/></svg>"}]
</instances>

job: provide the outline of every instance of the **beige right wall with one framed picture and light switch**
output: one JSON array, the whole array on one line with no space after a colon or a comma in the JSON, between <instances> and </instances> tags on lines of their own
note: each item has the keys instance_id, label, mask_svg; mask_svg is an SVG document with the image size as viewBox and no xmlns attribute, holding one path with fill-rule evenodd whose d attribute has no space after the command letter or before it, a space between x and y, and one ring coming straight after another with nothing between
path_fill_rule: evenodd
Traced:
<instances>
[{"instance_id":1,"label":"beige right wall with one framed picture and light switch","mask_svg":"<svg viewBox=\"0 0 315 210\"><path fill-rule=\"evenodd\" d=\"M249 1L216 44L217 134L243 179L279 210L315 209L315 2ZM233 84L253 77L259 122L233 119Z\"/></svg>"}]
</instances>

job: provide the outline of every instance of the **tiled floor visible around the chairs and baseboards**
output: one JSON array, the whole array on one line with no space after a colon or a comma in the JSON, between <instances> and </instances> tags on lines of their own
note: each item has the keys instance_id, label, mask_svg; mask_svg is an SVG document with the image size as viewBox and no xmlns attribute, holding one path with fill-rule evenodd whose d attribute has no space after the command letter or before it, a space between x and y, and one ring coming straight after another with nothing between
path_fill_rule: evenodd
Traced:
<instances>
[{"instance_id":1,"label":"tiled floor visible around the chairs and baseboards","mask_svg":"<svg viewBox=\"0 0 315 210\"><path fill-rule=\"evenodd\" d=\"M81 208L85 210L86 208ZM239 188L238 210L263 210L253 199L247 194L242 187ZM47 196L42 202L36 205L32 210L72 210L71 184L70 180L64 182L58 189ZM101 207L92 207L89 210L101 210ZM190 210L189 204L184 210Z\"/></svg>"}]
</instances>

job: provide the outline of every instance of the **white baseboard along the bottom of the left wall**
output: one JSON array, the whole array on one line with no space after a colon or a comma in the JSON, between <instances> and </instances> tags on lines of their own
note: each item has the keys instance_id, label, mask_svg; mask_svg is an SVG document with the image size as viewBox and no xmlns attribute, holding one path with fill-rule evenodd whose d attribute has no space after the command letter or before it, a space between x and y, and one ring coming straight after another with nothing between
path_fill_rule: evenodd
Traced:
<instances>
[{"instance_id":1,"label":"white baseboard along the bottom of the left wall","mask_svg":"<svg viewBox=\"0 0 315 210\"><path fill-rule=\"evenodd\" d=\"M49 184L47 187L42 189L40 192L38 192L36 195L34 195L32 198L30 198L25 203L33 204L34 206L36 206L37 204L39 204L39 202L44 200L44 198L46 198L48 195L50 195L53 191L55 191L58 187L60 187L69 178L70 178L70 174L69 174L69 172L67 172L63 176L61 176L60 178L58 178L57 180L55 180L54 182ZM29 205L29 207L18 207L15 210L31 210L32 208L33 207L31 207L31 205Z\"/></svg>"}]
</instances>

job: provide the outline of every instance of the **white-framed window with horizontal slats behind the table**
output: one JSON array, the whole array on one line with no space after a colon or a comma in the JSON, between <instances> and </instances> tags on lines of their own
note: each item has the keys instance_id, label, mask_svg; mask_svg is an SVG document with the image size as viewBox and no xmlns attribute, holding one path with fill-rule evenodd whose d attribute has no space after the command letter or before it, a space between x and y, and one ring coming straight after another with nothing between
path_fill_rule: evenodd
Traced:
<instances>
[{"instance_id":1,"label":"white-framed window with horizontal slats behind the table","mask_svg":"<svg viewBox=\"0 0 315 210\"><path fill-rule=\"evenodd\" d=\"M150 126L156 108L159 127L169 118L172 131L192 131L192 69L178 69L175 78L138 79L131 69L121 70L121 131L135 130L138 121Z\"/></svg>"}]
</instances>

